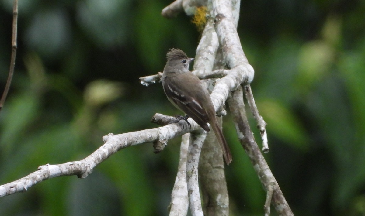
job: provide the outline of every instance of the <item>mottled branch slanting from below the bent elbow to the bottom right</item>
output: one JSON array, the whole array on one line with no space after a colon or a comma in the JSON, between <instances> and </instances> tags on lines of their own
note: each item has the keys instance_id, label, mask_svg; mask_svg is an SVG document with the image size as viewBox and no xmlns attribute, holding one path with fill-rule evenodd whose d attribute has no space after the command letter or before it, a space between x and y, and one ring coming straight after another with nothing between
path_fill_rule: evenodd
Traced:
<instances>
[{"instance_id":1,"label":"mottled branch slanting from below the bent elbow to the bottom right","mask_svg":"<svg viewBox=\"0 0 365 216\"><path fill-rule=\"evenodd\" d=\"M233 115L239 141L249 156L261 184L264 186L266 193L270 193L270 187L273 188L272 205L279 215L292 216L293 212L285 200L283 192L281 192L264 156L261 154L249 127L241 86L232 92L231 96L228 98L228 104Z\"/></svg>"}]
</instances>

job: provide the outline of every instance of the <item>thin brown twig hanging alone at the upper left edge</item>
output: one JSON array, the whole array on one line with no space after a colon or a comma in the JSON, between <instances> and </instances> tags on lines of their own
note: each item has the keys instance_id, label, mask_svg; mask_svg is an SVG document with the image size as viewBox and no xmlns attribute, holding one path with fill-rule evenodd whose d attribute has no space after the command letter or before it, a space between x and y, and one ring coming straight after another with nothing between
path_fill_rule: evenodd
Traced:
<instances>
[{"instance_id":1,"label":"thin brown twig hanging alone at the upper left edge","mask_svg":"<svg viewBox=\"0 0 365 216\"><path fill-rule=\"evenodd\" d=\"M4 106L4 102L5 102L6 96L8 95L11 80L12 80L13 74L14 74L16 48L17 48L16 47L17 26L18 26L18 0L14 0L14 6L13 6L13 34L12 34L12 40L11 40L10 68L9 68L8 80L6 81L3 96L1 96L1 99L0 99L0 110Z\"/></svg>"}]
</instances>

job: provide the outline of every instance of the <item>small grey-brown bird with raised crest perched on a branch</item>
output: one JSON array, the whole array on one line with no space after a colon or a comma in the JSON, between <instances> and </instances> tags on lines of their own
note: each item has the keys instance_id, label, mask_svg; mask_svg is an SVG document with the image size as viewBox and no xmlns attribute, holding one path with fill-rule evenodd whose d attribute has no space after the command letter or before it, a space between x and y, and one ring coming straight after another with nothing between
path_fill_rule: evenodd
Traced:
<instances>
[{"instance_id":1,"label":"small grey-brown bird with raised crest perched on a branch","mask_svg":"<svg viewBox=\"0 0 365 216\"><path fill-rule=\"evenodd\" d=\"M169 101L182 112L186 113L205 131L209 132L209 123L222 147L227 165L232 161L231 151L226 139L218 126L215 110L208 90L199 78L189 71L189 64L193 58L180 49L170 49L166 53L166 66L162 73L162 86Z\"/></svg>"}]
</instances>

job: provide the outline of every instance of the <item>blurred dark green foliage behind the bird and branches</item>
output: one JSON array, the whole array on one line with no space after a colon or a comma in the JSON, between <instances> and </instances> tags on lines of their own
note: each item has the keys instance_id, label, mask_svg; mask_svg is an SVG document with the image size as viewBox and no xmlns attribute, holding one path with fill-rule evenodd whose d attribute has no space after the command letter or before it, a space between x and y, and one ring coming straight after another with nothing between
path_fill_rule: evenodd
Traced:
<instances>
[{"instance_id":1,"label":"blurred dark green foliage behind the bird and branches","mask_svg":"<svg viewBox=\"0 0 365 216\"><path fill-rule=\"evenodd\" d=\"M161 84L165 53L194 57L200 33L168 0L19 1L15 74L0 112L0 185L46 163L80 160L102 136L157 127L174 115ZM0 89L11 56L12 0L0 0ZM365 215L365 1L242 1L238 24L268 123L265 158L295 215ZM261 146L259 132L251 128ZM263 215L265 192L238 142L224 134L230 215ZM180 138L160 154L128 147L85 179L58 177L0 198L1 215L168 215ZM272 215L276 215L272 209Z\"/></svg>"}]
</instances>

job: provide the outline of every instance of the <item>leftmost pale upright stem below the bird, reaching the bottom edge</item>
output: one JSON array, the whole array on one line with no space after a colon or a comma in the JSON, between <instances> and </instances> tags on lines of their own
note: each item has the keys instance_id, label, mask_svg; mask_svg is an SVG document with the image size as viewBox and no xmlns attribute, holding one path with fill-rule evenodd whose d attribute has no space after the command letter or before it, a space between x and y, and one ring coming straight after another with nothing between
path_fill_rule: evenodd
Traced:
<instances>
[{"instance_id":1,"label":"leftmost pale upright stem below the bird, reaching the bottom edge","mask_svg":"<svg viewBox=\"0 0 365 216\"><path fill-rule=\"evenodd\" d=\"M186 182L186 166L190 134L181 137L180 161L178 165L174 188L171 193L169 216L187 215L189 208L188 187Z\"/></svg>"}]
</instances>

